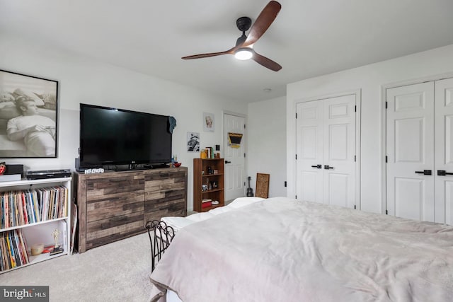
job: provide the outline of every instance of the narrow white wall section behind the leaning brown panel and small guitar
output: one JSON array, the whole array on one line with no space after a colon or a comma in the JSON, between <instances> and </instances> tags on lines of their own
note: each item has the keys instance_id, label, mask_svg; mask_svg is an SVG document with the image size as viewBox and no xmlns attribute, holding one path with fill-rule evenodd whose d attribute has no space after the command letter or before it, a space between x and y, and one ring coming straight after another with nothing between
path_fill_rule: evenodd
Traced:
<instances>
[{"instance_id":1,"label":"narrow white wall section behind the leaning brown panel and small guitar","mask_svg":"<svg viewBox=\"0 0 453 302\"><path fill-rule=\"evenodd\" d=\"M248 104L248 175L268 173L269 197L286 196L286 98Z\"/></svg>"}]
</instances>

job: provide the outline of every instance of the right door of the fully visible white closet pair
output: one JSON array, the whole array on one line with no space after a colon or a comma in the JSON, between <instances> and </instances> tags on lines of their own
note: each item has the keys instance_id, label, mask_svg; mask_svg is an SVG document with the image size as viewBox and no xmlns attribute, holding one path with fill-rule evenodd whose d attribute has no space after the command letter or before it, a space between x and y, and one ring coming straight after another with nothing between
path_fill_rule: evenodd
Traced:
<instances>
[{"instance_id":1,"label":"right door of the fully visible white closet pair","mask_svg":"<svg viewBox=\"0 0 453 302\"><path fill-rule=\"evenodd\" d=\"M323 101L323 199L355 205L355 95Z\"/></svg>"}]
</instances>

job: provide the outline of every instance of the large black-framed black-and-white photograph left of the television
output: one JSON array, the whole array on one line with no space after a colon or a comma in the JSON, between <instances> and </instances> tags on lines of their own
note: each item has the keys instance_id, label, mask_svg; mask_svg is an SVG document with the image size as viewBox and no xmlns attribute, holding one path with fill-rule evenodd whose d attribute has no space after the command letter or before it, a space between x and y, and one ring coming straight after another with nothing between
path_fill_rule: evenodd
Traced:
<instances>
[{"instance_id":1,"label":"large black-framed black-and-white photograph left of the television","mask_svg":"<svg viewBox=\"0 0 453 302\"><path fill-rule=\"evenodd\" d=\"M0 158L57 157L58 81L0 69Z\"/></svg>"}]
</instances>

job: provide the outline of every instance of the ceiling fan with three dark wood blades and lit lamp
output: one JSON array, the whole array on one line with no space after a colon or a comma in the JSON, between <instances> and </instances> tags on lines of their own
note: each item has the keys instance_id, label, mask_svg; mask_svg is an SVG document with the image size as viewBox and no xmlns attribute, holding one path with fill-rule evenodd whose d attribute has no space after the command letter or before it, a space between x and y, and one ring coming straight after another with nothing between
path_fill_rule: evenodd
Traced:
<instances>
[{"instance_id":1,"label":"ceiling fan with three dark wood blades and lit lamp","mask_svg":"<svg viewBox=\"0 0 453 302\"><path fill-rule=\"evenodd\" d=\"M253 59L253 61L270 70L279 71L282 69L280 64L277 64L273 60L258 54L252 47L253 44L265 33L265 31L268 30L270 24L273 23L275 18L277 18L280 8L282 8L280 3L277 1L270 1L268 5L263 8L263 11L261 11L260 16L256 18L253 25L251 25L251 18L248 17L241 17L236 20L236 25L239 30L241 30L242 35L238 38L238 40L236 40L236 46L230 50L226 50L224 52L211 52L209 54L194 54L192 56L182 57L181 59L201 59L206 57L215 57L221 54L234 54L236 59ZM249 28L250 32L248 32L248 36L246 36L246 31Z\"/></svg>"}]
</instances>

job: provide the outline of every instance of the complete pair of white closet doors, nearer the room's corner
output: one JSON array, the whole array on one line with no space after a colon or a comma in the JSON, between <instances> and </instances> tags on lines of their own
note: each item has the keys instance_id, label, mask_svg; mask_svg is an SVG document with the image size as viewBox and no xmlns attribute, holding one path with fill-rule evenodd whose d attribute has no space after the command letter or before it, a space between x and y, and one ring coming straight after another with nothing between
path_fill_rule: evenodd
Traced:
<instances>
[{"instance_id":1,"label":"complete pair of white closet doors, nearer the room's corner","mask_svg":"<svg viewBox=\"0 0 453 302\"><path fill-rule=\"evenodd\" d=\"M353 94L297 104L297 199L354 208L355 102Z\"/></svg>"}]
</instances>

